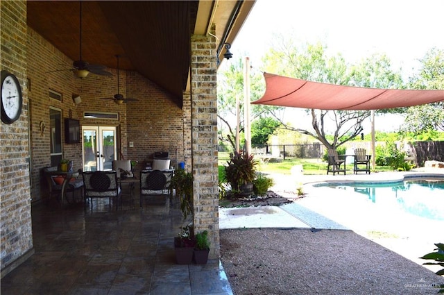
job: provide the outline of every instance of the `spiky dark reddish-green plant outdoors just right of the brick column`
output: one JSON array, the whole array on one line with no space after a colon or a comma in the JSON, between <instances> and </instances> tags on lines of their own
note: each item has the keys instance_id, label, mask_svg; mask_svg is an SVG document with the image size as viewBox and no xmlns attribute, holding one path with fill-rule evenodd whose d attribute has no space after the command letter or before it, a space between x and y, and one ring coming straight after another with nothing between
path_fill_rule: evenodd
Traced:
<instances>
[{"instance_id":1,"label":"spiky dark reddish-green plant outdoors just right of the brick column","mask_svg":"<svg viewBox=\"0 0 444 295\"><path fill-rule=\"evenodd\" d=\"M244 151L230 153L228 166L225 166L225 178L231 184L233 192L243 195L253 193L256 165L253 155L248 155Z\"/></svg>"}]
</instances>

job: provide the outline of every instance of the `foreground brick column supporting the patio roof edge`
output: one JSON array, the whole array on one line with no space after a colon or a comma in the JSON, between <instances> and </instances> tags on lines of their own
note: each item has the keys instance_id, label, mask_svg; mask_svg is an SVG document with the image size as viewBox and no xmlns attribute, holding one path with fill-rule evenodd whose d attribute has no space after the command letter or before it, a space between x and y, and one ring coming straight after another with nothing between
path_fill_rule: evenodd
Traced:
<instances>
[{"instance_id":1,"label":"foreground brick column supporting the patio roof edge","mask_svg":"<svg viewBox=\"0 0 444 295\"><path fill-rule=\"evenodd\" d=\"M194 231L208 230L210 258L219 258L216 40L191 37L191 142Z\"/></svg>"}]
</instances>

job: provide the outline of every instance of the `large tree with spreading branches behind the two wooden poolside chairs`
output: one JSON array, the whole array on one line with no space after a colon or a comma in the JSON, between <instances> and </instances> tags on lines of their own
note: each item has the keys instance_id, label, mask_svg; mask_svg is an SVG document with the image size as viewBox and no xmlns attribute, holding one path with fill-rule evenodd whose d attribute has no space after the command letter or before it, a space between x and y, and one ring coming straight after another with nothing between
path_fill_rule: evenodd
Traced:
<instances>
[{"instance_id":1,"label":"large tree with spreading branches behind the two wooden poolside chairs","mask_svg":"<svg viewBox=\"0 0 444 295\"><path fill-rule=\"evenodd\" d=\"M341 54L327 56L326 49L320 42L296 46L291 41L282 41L267 53L264 64L267 71L309 81L384 88L402 85L400 74L391 70L390 60L385 55L374 54L350 66ZM370 116L370 111L360 110L307 111L311 114L313 130L285 126L314 137L328 149L336 149L359 135L363 121ZM333 127L332 141L327 140L327 126Z\"/></svg>"}]
</instances>

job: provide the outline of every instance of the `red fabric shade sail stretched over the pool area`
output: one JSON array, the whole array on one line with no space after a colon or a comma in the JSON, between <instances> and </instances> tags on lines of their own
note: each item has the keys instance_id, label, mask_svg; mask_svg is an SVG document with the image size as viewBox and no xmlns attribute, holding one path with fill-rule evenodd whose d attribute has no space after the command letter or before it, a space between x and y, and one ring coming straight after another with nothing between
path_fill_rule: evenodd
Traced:
<instances>
[{"instance_id":1,"label":"red fabric shade sail stretched over the pool area","mask_svg":"<svg viewBox=\"0 0 444 295\"><path fill-rule=\"evenodd\" d=\"M318 110L379 110L444 101L444 90L395 90L318 83L264 73L266 90L254 104Z\"/></svg>"}]
</instances>

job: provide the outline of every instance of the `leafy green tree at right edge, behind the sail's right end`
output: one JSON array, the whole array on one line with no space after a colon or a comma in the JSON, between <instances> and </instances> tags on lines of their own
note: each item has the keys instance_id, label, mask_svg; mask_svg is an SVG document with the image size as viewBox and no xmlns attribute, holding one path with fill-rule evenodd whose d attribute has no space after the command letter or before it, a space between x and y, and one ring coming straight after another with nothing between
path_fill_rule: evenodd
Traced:
<instances>
[{"instance_id":1,"label":"leafy green tree at right edge, behind the sail's right end","mask_svg":"<svg viewBox=\"0 0 444 295\"><path fill-rule=\"evenodd\" d=\"M420 60L422 69L409 78L412 89L444 89L444 50L432 48ZM430 130L444 130L444 102L413 106L405 111L402 133L424 133Z\"/></svg>"}]
</instances>

